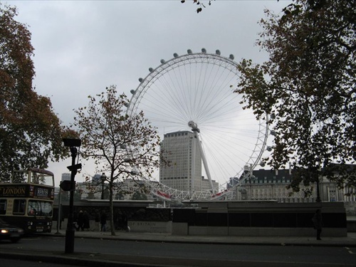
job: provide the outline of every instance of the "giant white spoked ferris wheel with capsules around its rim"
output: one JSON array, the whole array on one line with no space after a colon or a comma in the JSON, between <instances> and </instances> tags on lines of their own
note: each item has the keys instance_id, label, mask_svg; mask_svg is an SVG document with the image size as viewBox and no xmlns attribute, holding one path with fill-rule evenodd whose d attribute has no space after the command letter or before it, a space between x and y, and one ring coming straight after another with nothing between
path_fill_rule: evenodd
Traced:
<instances>
[{"instance_id":1,"label":"giant white spoked ferris wheel with capsules around its rim","mask_svg":"<svg viewBox=\"0 0 356 267\"><path fill-rule=\"evenodd\" d=\"M159 170L149 183L152 192L163 199L216 199L231 196L241 182L251 177L258 164L263 166L267 146L268 114L260 120L241 105L234 93L239 73L234 56L216 53L187 54L150 68L140 85L131 90L127 115L140 112L157 127L161 140L169 132L192 131L202 153L202 176L219 183L219 188L194 192L177 190L159 182Z\"/></svg>"}]
</instances>

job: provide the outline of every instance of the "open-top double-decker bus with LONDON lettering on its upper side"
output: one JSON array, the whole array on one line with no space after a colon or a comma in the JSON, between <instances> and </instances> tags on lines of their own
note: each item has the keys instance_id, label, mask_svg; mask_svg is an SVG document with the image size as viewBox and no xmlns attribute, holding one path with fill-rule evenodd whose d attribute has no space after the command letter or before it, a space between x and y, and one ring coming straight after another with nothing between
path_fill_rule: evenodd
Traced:
<instances>
[{"instance_id":1,"label":"open-top double-decker bus with LONDON lettering on its upper side","mask_svg":"<svg viewBox=\"0 0 356 267\"><path fill-rule=\"evenodd\" d=\"M14 171L10 182L0 184L0 218L26 233L52 229L54 176L46 169Z\"/></svg>"}]
</instances>

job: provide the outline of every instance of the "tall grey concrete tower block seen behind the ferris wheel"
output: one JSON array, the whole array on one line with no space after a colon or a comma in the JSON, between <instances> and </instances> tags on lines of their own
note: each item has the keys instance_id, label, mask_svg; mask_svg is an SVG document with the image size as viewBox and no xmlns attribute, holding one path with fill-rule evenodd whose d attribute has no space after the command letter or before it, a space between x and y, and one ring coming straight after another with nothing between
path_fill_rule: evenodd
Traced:
<instances>
[{"instance_id":1,"label":"tall grey concrete tower block seen behind the ferris wheel","mask_svg":"<svg viewBox=\"0 0 356 267\"><path fill-rule=\"evenodd\" d=\"M201 190L201 155L193 132L179 131L164 135L163 157L169 164L159 168L159 182L177 190Z\"/></svg>"}]
</instances>

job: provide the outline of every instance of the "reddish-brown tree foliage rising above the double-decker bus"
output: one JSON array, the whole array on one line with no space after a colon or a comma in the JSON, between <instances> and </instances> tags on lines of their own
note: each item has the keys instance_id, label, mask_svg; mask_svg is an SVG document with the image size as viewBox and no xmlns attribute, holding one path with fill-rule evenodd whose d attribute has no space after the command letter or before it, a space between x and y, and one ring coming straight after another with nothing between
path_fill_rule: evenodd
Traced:
<instances>
[{"instance_id":1,"label":"reddish-brown tree foliage rising above the double-decker bus","mask_svg":"<svg viewBox=\"0 0 356 267\"><path fill-rule=\"evenodd\" d=\"M51 100L32 88L35 75L31 33L15 20L15 7L0 3L0 179L13 169L48 167L65 150L64 128Z\"/></svg>"}]
</instances>

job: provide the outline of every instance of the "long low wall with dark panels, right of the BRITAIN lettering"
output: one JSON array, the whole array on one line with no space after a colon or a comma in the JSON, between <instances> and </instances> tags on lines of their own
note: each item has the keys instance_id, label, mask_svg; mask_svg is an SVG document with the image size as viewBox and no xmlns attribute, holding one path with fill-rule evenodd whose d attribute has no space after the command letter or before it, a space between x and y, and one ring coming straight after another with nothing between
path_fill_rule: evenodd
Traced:
<instances>
[{"instance_id":1,"label":"long low wall with dark panels, right of the BRITAIN lettering","mask_svg":"<svg viewBox=\"0 0 356 267\"><path fill-rule=\"evenodd\" d=\"M321 209L323 236L347 236L342 202L207 201L198 205L198 209L174 209L172 234L313 236L313 214Z\"/></svg>"}]
</instances>

